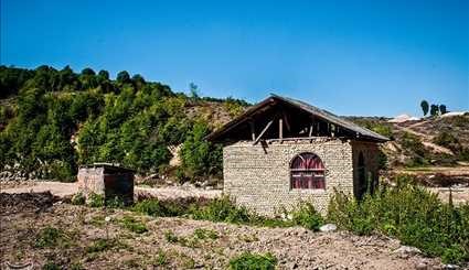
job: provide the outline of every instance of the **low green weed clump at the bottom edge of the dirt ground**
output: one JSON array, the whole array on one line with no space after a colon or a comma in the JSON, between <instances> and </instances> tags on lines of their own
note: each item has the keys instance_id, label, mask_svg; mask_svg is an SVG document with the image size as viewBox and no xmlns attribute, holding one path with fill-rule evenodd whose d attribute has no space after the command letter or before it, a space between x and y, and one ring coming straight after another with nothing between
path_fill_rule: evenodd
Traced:
<instances>
[{"instance_id":1,"label":"low green weed clump at the bottom edge of the dirt ground","mask_svg":"<svg viewBox=\"0 0 469 270\"><path fill-rule=\"evenodd\" d=\"M232 270L273 270L276 264L277 258L269 252L265 255L243 252L230 260Z\"/></svg>"}]
</instances>

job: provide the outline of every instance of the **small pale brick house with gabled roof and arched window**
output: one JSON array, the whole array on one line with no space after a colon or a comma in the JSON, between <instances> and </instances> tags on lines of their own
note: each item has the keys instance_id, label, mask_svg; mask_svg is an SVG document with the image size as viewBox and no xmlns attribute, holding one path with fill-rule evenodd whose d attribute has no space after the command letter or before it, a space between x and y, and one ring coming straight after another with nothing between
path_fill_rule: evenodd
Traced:
<instances>
[{"instance_id":1,"label":"small pale brick house with gabled roof and arched window","mask_svg":"<svg viewBox=\"0 0 469 270\"><path fill-rule=\"evenodd\" d=\"M206 137L223 148L224 193L263 215L334 190L358 198L377 184L379 143L388 139L309 104L277 95Z\"/></svg>"}]
</instances>

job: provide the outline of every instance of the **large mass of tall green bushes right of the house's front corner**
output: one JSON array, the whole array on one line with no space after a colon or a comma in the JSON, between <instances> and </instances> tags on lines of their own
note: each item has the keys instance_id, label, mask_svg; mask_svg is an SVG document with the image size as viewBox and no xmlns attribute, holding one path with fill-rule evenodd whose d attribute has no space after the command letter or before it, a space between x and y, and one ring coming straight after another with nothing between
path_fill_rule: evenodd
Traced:
<instances>
[{"instance_id":1,"label":"large mass of tall green bushes right of the house's front corner","mask_svg":"<svg viewBox=\"0 0 469 270\"><path fill-rule=\"evenodd\" d=\"M337 193L328 218L358 235L373 231L397 237L428 256L446 262L469 259L469 205L454 207L437 195L413 184L409 176L396 179L396 187L380 187L361 202Z\"/></svg>"}]
</instances>

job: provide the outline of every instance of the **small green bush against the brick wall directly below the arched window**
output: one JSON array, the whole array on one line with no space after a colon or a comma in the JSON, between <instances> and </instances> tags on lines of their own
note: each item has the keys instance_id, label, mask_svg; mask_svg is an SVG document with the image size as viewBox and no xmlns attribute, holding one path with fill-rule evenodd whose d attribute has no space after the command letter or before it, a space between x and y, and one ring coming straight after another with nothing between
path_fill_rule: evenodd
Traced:
<instances>
[{"instance_id":1,"label":"small green bush against the brick wall directly below the arched window","mask_svg":"<svg viewBox=\"0 0 469 270\"><path fill-rule=\"evenodd\" d=\"M324 223L322 216L315 209L311 203L301 202L295 210L291 212L291 219L296 225L310 230L319 230Z\"/></svg>"}]
</instances>

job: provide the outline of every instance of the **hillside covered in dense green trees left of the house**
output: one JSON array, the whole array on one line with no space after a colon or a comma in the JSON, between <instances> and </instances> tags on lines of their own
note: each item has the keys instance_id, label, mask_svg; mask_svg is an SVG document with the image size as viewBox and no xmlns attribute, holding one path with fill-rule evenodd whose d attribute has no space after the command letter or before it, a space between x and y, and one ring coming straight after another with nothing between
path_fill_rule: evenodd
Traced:
<instances>
[{"instance_id":1,"label":"hillside covered in dense green trees left of the house","mask_svg":"<svg viewBox=\"0 0 469 270\"><path fill-rule=\"evenodd\" d=\"M220 175L221 148L202 140L248 105L173 93L127 72L79 74L68 66L0 66L0 169L23 177L73 180L81 164L115 162L180 180ZM169 149L182 143L181 164ZM175 170L174 170L175 169Z\"/></svg>"}]
</instances>

